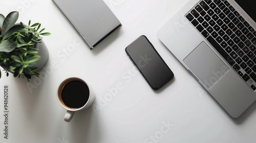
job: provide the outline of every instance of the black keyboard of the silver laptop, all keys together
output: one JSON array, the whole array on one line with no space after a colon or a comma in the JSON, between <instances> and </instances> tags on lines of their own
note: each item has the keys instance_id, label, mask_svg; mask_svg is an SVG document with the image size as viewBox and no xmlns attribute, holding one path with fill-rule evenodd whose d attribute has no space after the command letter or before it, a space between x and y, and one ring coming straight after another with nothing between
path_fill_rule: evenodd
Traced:
<instances>
[{"instance_id":1,"label":"black keyboard of the silver laptop, all keys together","mask_svg":"<svg viewBox=\"0 0 256 143\"><path fill-rule=\"evenodd\" d=\"M249 23L224 0L202 0L186 18L255 91L256 31Z\"/></svg>"}]
</instances>

